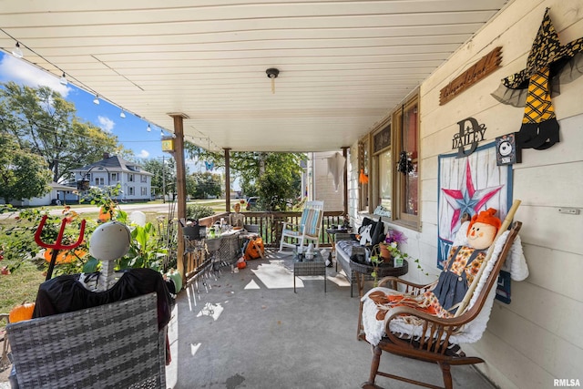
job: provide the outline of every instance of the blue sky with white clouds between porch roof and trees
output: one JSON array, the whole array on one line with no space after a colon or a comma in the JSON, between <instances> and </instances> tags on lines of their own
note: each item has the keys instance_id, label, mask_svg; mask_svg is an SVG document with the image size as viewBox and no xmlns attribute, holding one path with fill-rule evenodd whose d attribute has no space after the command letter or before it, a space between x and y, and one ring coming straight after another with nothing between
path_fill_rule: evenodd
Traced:
<instances>
[{"instance_id":1,"label":"blue sky with white clouds between porch roof and trees","mask_svg":"<svg viewBox=\"0 0 583 389\"><path fill-rule=\"evenodd\" d=\"M67 101L75 104L77 117L117 135L119 142L125 148L131 149L138 159L151 159L162 155L169 157L169 154L161 150L161 128L150 125L151 131L148 132L148 122L141 118L129 113L126 113L126 118L120 118L118 107L103 100L96 105L93 103L95 96L72 84L64 86L57 77L0 51L0 82L7 81L29 87L46 86L58 91ZM189 163L189 168L193 171L192 163Z\"/></svg>"}]
</instances>

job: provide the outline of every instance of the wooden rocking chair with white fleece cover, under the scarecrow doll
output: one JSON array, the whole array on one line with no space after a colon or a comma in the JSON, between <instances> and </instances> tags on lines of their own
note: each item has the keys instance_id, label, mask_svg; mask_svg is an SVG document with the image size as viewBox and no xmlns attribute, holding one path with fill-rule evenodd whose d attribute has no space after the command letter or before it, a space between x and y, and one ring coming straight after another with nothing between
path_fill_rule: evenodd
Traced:
<instances>
[{"instance_id":1,"label":"wooden rocking chair with white fleece cover, under the scarecrow doll","mask_svg":"<svg viewBox=\"0 0 583 389\"><path fill-rule=\"evenodd\" d=\"M379 335L381 339L376 345L373 345L371 372L368 381L361 386L363 389L380 388L381 386L374 383L377 375L425 387L439 387L408 377L380 372L379 363L384 351L424 362L437 363L442 370L446 389L453 387L450 369L452 365L484 362L482 358L466 356L458 343L477 342L486 330L486 323L496 296L495 285L498 272L506 261L506 256L511 250L520 227L521 223L517 221L512 230L506 231L500 236L500 242L496 243L491 260L483 265L485 270L477 283L476 290L471 294L467 308L462 310L461 314L451 318L439 318L408 306L396 306L386 313L384 322L381 322L383 327L382 335ZM515 247L513 250L518 249ZM396 277L386 277L379 284L383 285L387 282L402 284L404 292L414 295L425 292L431 286L406 282ZM363 320L366 315L372 317L370 315L375 314L370 308L370 303L367 306L365 302L363 307L363 302L361 302ZM462 308L460 307L460 309ZM364 325L364 328L367 331L367 325ZM368 331L374 332L370 327ZM366 335L366 333L361 333L359 338L361 340L371 339L370 336Z\"/></svg>"}]
</instances>

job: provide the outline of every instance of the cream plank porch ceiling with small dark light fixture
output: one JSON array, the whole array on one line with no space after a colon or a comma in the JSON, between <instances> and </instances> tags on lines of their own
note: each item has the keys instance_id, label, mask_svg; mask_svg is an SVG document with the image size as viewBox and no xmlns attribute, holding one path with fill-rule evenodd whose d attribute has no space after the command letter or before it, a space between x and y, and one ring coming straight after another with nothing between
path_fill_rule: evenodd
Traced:
<instances>
[{"instance_id":1,"label":"cream plank porch ceiling with small dark light fixture","mask_svg":"<svg viewBox=\"0 0 583 389\"><path fill-rule=\"evenodd\" d=\"M0 47L204 148L350 146L506 0L0 0ZM275 93L266 69L280 70Z\"/></svg>"}]
</instances>

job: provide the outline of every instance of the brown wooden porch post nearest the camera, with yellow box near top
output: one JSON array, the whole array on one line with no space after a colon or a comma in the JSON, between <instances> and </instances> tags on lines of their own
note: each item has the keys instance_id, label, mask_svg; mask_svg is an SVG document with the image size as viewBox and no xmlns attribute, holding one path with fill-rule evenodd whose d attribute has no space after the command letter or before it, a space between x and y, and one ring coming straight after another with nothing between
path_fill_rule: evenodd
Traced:
<instances>
[{"instance_id":1,"label":"brown wooden porch post nearest the camera, with yellow box near top","mask_svg":"<svg viewBox=\"0 0 583 389\"><path fill-rule=\"evenodd\" d=\"M174 160L176 161L176 192L178 197L178 207L176 217L186 219L186 165L184 163L184 119L189 118L183 113L170 113L174 119ZM172 222L172 220L169 220ZM178 249L176 253L176 267L182 275L182 283L186 284L186 271L184 270L184 234L182 227L178 228Z\"/></svg>"}]
</instances>

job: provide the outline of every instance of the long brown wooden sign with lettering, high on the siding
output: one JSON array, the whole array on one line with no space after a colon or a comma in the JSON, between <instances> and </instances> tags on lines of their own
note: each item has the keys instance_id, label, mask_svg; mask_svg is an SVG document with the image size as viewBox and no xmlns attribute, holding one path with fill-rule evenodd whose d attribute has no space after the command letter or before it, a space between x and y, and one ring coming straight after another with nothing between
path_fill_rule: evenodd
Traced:
<instances>
[{"instance_id":1,"label":"long brown wooden sign with lettering, high on the siding","mask_svg":"<svg viewBox=\"0 0 583 389\"><path fill-rule=\"evenodd\" d=\"M465 91L465 89L495 71L500 67L500 62L502 62L502 47L498 46L442 88L439 92L439 105L443 106L446 102Z\"/></svg>"}]
</instances>

